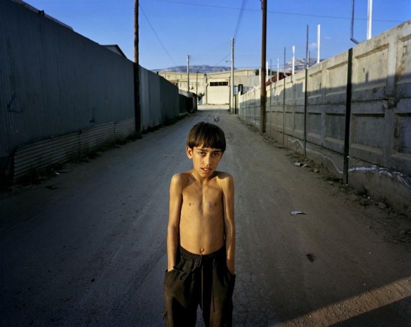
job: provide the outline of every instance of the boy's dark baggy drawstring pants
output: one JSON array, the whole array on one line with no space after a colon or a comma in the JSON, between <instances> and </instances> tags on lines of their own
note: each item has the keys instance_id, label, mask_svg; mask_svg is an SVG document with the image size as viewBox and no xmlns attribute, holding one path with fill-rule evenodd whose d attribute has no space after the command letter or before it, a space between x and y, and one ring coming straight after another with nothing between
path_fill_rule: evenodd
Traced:
<instances>
[{"instance_id":1,"label":"boy's dark baggy drawstring pants","mask_svg":"<svg viewBox=\"0 0 411 327\"><path fill-rule=\"evenodd\" d=\"M235 279L225 247L207 255L180 247L175 268L164 277L165 326L195 326L198 305L206 327L232 326Z\"/></svg>"}]
</instances>

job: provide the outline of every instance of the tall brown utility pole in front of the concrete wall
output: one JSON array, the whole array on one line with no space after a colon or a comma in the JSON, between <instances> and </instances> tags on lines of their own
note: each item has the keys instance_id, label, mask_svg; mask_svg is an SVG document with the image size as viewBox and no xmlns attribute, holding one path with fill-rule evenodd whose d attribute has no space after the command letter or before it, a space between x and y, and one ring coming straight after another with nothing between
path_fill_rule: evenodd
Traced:
<instances>
[{"instance_id":1,"label":"tall brown utility pole in front of the concrete wall","mask_svg":"<svg viewBox=\"0 0 411 327\"><path fill-rule=\"evenodd\" d=\"M261 0L263 9L263 30L261 42L261 73L260 73L260 134L266 130L266 45L267 45L267 0Z\"/></svg>"}]
</instances>

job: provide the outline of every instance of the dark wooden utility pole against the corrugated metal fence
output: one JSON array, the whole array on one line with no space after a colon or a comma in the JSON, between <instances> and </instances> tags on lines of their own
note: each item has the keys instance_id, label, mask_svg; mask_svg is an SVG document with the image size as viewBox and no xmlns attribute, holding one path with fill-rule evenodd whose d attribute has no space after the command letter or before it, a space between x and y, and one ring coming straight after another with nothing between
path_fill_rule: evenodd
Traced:
<instances>
[{"instance_id":1,"label":"dark wooden utility pole against the corrugated metal fence","mask_svg":"<svg viewBox=\"0 0 411 327\"><path fill-rule=\"evenodd\" d=\"M134 1L134 117L136 134L141 134L141 108L140 108L140 65L138 63L138 0Z\"/></svg>"}]
</instances>

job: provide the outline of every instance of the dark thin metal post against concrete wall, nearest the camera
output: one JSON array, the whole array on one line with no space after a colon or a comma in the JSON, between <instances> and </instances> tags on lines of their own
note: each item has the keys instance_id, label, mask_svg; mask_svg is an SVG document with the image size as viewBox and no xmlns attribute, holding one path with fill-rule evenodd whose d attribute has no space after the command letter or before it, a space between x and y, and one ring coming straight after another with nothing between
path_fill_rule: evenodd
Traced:
<instances>
[{"instance_id":1,"label":"dark thin metal post against concrete wall, nearest the camera","mask_svg":"<svg viewBox=\"0 0 411 327\"><path fill-rule=\"evenodd\" d=\"M352 62L353 48L348 50L347 63L347 96L345 101L345 134L344 134L344 168L343 181L348 184L348 162L350 153L350 120L351 120L351 95L352 95Z\"/></svg>"}]
</instances>

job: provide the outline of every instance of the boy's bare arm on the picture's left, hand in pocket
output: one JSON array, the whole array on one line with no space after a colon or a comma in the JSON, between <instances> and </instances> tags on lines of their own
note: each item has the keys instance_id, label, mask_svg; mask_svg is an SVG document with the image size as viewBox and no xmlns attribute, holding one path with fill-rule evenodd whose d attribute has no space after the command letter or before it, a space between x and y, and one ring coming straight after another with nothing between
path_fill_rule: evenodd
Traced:
<instances>
[{"instance_id":1,"label":"boy's bare arm on the picture's left, hand in pocket","mask_svg":"<svg viewBox=\"0 0 411 327\"><path fill-rule=\"evenodd\" d=\"M175 174L170 182L170 203L167 227L167 271L174 269L178 248L180 210L182 203L182 176Z\"/></svg>"}]
</instances>

